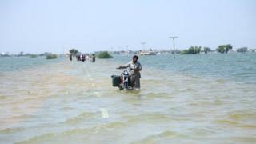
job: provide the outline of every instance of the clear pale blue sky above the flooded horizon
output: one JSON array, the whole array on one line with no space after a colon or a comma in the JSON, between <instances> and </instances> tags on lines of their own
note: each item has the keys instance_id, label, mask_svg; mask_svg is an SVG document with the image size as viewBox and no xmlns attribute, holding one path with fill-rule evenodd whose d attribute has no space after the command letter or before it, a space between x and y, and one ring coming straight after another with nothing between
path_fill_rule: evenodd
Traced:
<instances>
[{"instance_id":1,"label":"clear pale blue sky above the flooded horizon","mask_svg":"<svg viewBox=\"0 0 256 144\"><path fill-rule=\"evenodd\" d=\"M254 0L0 0L0 52L256 48Z\"/></svg>"}]
</instances>

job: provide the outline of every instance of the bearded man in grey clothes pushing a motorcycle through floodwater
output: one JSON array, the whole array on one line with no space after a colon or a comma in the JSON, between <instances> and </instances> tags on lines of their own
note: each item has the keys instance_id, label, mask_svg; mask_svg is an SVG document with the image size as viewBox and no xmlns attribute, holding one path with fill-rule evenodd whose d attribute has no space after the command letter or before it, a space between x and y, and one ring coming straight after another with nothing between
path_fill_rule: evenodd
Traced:
<instances>
[{"instance_id":1,"label":"bearded man in grey clothes pushing a motorcycle through floodwater","mask_svg":"<svg viewBox=\"0 0 256 144\"><path fill-rule=\"evenodd\" d=\"M134 87L134 89L140 89L140 78L141 78L141 73L140 71L142 70L142 65L140 62L138 62L138 56L134 55L132 61L128 62L125 66L119 66L118 69L125 69L129 68L130 70L130 81L131 81L131 86Z\"/></svg>"}]
</instances>

